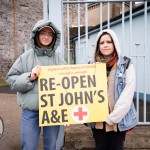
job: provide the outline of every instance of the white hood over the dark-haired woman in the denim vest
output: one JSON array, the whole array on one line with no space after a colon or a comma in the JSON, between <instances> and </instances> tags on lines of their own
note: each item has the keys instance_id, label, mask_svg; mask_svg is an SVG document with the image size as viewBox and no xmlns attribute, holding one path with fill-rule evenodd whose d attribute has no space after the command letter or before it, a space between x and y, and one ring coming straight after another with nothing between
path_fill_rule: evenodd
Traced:
<instances>
[{"instance_id":1,"label":"white hood over the dark-haired woman in the denim vest","mask_svg":"<svg viewBox=\"0 0 150 150\"><path fill-rule=\"evenodd\" d=\"M95 44L95 52L99 48L99 39L100 39L101 35L105 32L108 33L111 36L111 38L114 42L115 50L116 50L117 55L118 55L118 63L119 63L119 61L120 61L120 44L119 44L118 37L117 37L116 33L113 30L105 29L105 30L102 30L98 33L96 44Z\"/></svg>"}]
</instances>

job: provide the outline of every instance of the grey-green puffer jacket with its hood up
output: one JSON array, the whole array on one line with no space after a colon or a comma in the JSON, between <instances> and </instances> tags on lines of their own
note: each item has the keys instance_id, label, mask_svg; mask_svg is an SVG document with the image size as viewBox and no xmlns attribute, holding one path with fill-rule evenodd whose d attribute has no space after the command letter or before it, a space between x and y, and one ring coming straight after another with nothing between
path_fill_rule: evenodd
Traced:
<instances>
[{"instance_id":1,"label":"grey-green puffer jacket with its hood up","mask_svg":"<svg viewBox=\"0 0 150 150\"><path fill-rule=\"evenodd\" d=\"M35 44L35 35L43 26L50 26L56 32L55 44L50 48L39 48ZM23 53L10 68L6 82L11 90L17 91L18 104L23 109L38 110L38 79L31 82L29 80L32 69L36 66L64 65L65 61L55 53L60 43L60 32L50 21L40 20L31 32L32 48Z\"/></svg>"}]
</instances>

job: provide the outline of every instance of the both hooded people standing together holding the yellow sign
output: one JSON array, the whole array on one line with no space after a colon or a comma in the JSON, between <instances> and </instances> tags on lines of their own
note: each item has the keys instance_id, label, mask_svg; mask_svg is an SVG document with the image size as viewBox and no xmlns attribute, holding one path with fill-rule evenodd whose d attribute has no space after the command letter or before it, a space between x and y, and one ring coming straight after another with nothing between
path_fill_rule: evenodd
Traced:
<instances>
[{"instance_id":1,"label":"both hooded people standing together holding the yellow sign","mask_svg":"<svg viewBox=\"0 0 150 150\"><path fill-rule=\"evenodd\" d=\"M17 91L22 107L22 149L38 149L41 128L38 115L38 83L40 66L64 65L55 53L60 42L60 32L50 21L39 21L31 32L32 49L22 54L7 74L11 89ZM88 123L93 132L96 150L123 150L126 132L137 124L133 104L135 72L130 63L120 55L120 46L112 30L98 34L95 62L105 60L108 79L109 116L106 122ZM94 109L94 108L93 108ZM99 114L98 114L99 115ZM55 150L60 126L43 127L44 150Z\"/></svg>"}]
</instances>

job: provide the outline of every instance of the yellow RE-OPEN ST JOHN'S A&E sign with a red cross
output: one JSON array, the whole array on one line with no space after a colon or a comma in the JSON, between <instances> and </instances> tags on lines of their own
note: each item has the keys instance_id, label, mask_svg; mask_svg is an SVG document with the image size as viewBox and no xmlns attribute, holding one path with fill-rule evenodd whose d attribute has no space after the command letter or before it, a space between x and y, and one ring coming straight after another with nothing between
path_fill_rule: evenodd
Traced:
<instances>
[{"instance_id":1,"label":"yellow RE-OPEN ST JOHN'S A&E sign with a red cross","mask_svg":"<svg viewBox=\"0 0 150 150\"><path fill-rule=\"evenodd\" d=\"M39 83L39 125L106 121L106 64L43 66Z\"/></svg>"}]
</instances>

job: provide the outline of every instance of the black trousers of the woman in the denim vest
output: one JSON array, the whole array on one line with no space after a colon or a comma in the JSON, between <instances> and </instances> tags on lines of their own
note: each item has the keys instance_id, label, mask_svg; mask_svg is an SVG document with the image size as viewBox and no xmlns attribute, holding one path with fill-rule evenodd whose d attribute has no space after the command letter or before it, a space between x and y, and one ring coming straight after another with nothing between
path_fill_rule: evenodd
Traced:
<instances>
[{"instance_id":1,"label":"black trousers of the woman in the denim vest","mask_svg":"<svg viewBox=\"0 0 150 150\"><path fill-rule=\"evenodd\" d=\"M124 150L126 132L106 132L105 129L93 129L96 150Z\"/></svg>"}]
</instances>

